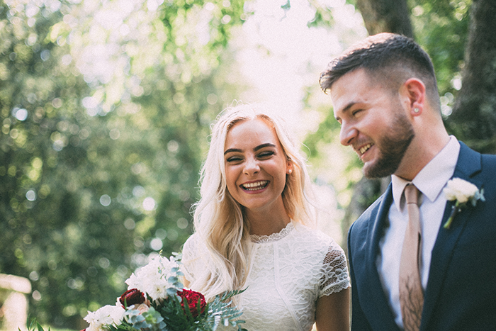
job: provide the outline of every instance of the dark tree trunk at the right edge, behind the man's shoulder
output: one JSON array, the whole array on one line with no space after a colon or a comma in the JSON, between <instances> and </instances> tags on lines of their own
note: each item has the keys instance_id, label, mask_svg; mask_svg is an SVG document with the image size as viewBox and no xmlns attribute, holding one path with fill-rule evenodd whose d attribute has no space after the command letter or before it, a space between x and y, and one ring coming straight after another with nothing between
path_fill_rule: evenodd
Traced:
<instances>
[{"instance_id":1,"label":"dark tree trunk at the right edge, behind the man's shoulder","mask_svg":"<svg viewBox=\"0 0 496 331\"><path fill-rule=\"evenodd\" d=\"M496 3L473 0L462 87L446 125L480 152L496 152Z\"/></svg>"}]
</instances>

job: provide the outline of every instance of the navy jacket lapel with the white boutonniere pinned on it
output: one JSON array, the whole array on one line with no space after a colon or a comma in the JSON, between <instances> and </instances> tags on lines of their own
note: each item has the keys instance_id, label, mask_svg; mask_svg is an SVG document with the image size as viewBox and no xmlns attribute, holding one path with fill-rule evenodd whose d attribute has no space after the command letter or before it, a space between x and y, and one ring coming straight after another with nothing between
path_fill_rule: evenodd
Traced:
<instances>
[{"instance_id":1,"label":"navy jacket lapel with the white boutonniere pinned on it","mask_svg":"<svg viewBox=\"0 0 496 331\"><path fill-rule=\"evenodd\" d=\"M481 170L481 155L478 152L470 150L463 142L460 142L460 145L460 155L458 156L453 178L458 177L470 181L470 183L475 184L480 189L482 183L471 177L478 174ZM436 301L439 298L439 293L446 277L446 270L453 256L453 249L458 241L458 237L463 232L463 228L466 227L468 220L470 220L470 208L464 208L456 215L451 227L445 229L443 225L448 220L449 215L451 215L454 204L454 201L447 201L446 203L441 227L439 228L436 243L432 249L429 281L427 282L424 310L422 311L421 330L428 325L429 319L432 317Z\"/></svg>"}]
</instances>

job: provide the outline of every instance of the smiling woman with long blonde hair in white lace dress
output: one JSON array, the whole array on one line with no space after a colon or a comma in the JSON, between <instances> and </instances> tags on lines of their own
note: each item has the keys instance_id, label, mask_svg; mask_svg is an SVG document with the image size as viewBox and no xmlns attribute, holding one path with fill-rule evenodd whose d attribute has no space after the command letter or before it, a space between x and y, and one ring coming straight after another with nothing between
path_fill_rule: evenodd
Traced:
<instances>
[{"instance_id":1,"label":"smiling woman with long blonde hair in white lace dress","mask_svg":"<svg viewBox=\"0 0 496 331\"><path fill-rule=\"evenodd\" d=\"M186 286L237 298L249 331L349 330L344 252L315 223L305 161L276 116L239 105L220 114L201 171Z\"/></svg>"}]
</instances>

